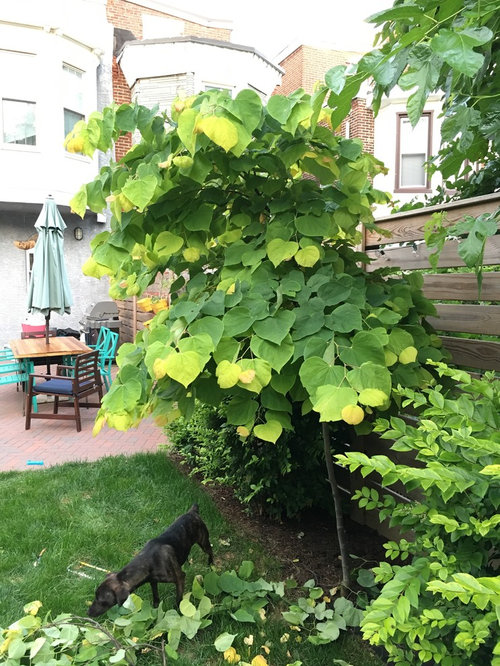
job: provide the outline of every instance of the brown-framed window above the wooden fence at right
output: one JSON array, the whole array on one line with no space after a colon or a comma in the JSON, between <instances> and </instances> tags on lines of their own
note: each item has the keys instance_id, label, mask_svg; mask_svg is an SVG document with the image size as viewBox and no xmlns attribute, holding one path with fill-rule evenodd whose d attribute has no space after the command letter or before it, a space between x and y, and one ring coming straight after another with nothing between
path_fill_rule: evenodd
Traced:
<instances>
[{"instance_id":1,"label":"brown-framed window above the wooden fence at right","mask_svg":"<svg viewBox=\"0 0 500 666\"><path fill-rule=\"evenodd\" d=\"M425 163L431 154L432 114L426 111L415 127L406 113L397 114L396 186L398 192L427 192Z\"/></svg>"}]
</instances>

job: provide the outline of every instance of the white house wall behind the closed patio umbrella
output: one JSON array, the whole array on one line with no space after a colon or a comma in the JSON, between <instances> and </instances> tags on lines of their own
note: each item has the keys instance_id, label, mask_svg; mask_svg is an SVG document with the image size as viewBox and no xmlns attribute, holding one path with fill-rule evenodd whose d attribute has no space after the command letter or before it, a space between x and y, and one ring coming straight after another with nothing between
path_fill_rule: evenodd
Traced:
<instances>
[{"instance_id":1,"label":"white house wall behind the closed patio umbrella","mask_svg":"<svg viewBox=\"0 0 500 666\"><path fill-rule=\"evenodd\" d=\"M13 244L26 240L48 194L68 226L65 256L74 307L71 315L53 315L58 328L76 328L91 303L108 300L106 280L87 278L81 268L89 242L103 230L94 214L70 215L68 203L82 183L94 178L97 159L67 153L64 141L63 64L82 74L82 108L88 116L111 101L113 28L105 0L16 0L0 13L0 98L35 102L36 145L4 143L0 99L0 345L19 337L27 316L26 252ZM27 55L22 55L27 54ZM10 62L11 67L2 67ZM19 63L19 64L16 64ZM104 220L104 218L102 218ZM73 230L82 227L76 241Z\"/></svg>"}]
</instances>

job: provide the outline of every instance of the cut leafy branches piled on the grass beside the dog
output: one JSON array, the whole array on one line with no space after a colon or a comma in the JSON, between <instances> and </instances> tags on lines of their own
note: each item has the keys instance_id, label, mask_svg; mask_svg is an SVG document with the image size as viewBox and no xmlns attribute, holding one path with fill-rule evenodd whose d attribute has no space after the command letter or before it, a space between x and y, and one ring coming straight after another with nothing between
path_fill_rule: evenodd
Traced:
<instances>
[{"instance_id":1,"label":"cut leafy branches piled on the grass beside the dog","mask_svg":"<svg viewBox=\"0 0 500 666\"><path fill-rule=\"evenodd\" d=\"M291 602L286 593L296 587L293 580L255 580L253 562L246 560L237 572L224 571L219 575L212 570L205 576L196 576L178 610L164 610L162 604L152 608L148 601L132 594L123 606L114 606L99 621L69 613L52 619L50 612L45 616L39 613L40 601L33 601L24 607L22 618L6 629L0 627L0 660L6 666L167 664L182 656L186 641L199 637L212 625L208 643L204 635L205 654L209 648L213 656L223 653L229 663L267 666L262 652L271 654L273 663L284 663L283 659L290 662L304 651L302 641L312 646L332 643L341 631L359 626L360 613L351 601L339 598L332 602L310 580L300 588L306 596ZM275 606L281 613L271 612ZM213 624L217 619L217 626L224 627L224 631L214 640ZM290 633L283 633L285 628ZM245 637L248 630L252 633ZM276 631L281 638L270 640ZM253 632L259 636L255 643ZM291 636L300 640L290 640ZM236 649L251 664L242 660ZM209 661L212 663L212 658ZM294 662L296 666L302 663Z\"/></svg>"}]
</instances>

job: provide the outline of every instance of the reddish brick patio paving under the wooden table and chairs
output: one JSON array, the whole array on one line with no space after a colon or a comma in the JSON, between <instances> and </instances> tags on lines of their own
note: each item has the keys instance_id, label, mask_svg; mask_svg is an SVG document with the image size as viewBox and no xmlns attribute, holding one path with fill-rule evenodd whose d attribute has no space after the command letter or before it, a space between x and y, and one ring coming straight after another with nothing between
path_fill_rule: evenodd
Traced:
<instances>
[{"instance_id":1,"label":"reddish brick patio paving under the wooden table and chairs","mask_svg":"<svg viewBox=\"0 0 500 666\"><path fill-rule=\"evenodd\" d=\"M82 431L76 432L74 421L33 420L31 429L24 429L24 394L15 384L0 386L0 471L37 470L74 460L97 460L104 456L131 455L156 451L166 442L161 428L152 420L139 428L119 432L106 426L92 437L96 409L82 409ZM51 405L39 406L51 410ZM28 465L43 461L43 465Z\"/></svg>"}]
</instances>

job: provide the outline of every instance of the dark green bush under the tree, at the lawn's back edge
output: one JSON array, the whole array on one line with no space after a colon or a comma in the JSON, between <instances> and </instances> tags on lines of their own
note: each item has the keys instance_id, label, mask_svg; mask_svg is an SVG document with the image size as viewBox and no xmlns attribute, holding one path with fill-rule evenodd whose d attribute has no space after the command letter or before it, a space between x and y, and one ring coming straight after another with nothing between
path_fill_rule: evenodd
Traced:
<instances>
[{"instance_id":1,"label":"dark green bush under the tree, at the lawn's back edge","mask_svg":"<svg viewBox=\"0 0 500 666\"><path fill-rule=\"evenodd\" d=\"M250 435L242 443L226 421L226 406L197 404L190 420L167 427L176 450L205 481L232 486L243 504L281 517L311 506L329 508L321 429L313 414L292 416L294 433L275 444ZM314 479L314 484L311 483Z\"/></svg>"}]
</instances>

